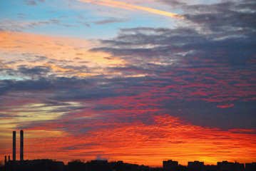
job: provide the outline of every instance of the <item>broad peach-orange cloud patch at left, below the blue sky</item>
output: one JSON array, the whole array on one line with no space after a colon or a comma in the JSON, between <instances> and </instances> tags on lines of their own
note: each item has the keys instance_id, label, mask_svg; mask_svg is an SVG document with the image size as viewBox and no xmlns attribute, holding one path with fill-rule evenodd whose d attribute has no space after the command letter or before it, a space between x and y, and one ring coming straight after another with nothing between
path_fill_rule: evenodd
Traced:
<instances>
[{"instance_id":1,"label":"broad peach-orange cloud patch at left, below the blue sky","mask_svg":"<svg viewBox=\"0 0 256 171\"><path fill-rule=\"evenodd\" d=\"M0 58L3 58L6 62L19 61L19 63L6 65L4 68L15 68L20 65L51 66L53 71L63 74L95 76L103 72L98 66L106 67L124 63L119 58L112 58L108 53L88 51L88 49L95 46L97 46L97 42L78 38L0 31ZM43 62L36 61L36 56L45 56L48 59ZM77 60L76 57L81 60ZM53 60L57 61L54 64L46 63ZM57 66L58 61L60 61L60 66ZM87 73L87 71L63 68L61 66L63 63L69 63L72 66L98 67L98 69L97 71L91 70L90 73Z\"/></svg>"}]
</instances>

